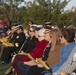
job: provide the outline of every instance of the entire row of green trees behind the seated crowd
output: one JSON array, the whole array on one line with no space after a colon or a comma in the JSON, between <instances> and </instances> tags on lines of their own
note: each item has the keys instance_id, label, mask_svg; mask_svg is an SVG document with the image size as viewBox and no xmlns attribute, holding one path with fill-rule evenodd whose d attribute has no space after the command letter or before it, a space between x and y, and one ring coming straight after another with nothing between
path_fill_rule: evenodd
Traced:
<instances>
[{"instance_id":1,"label":"entire row of green trees behind the seated crowd","mask_svg":"<svg viewBox=\"0 0 76 75\"><path fill-rule=\"evenodd\" d=\"M18 7L22 2L24 0L0 0L0 13L3 13L12 25L23 23L27 26L29 20L37 24L51 21L52 25L60 27L73 24L74 12L64 11L70 0L33 0L24 2L25 7Z\"/></svg>"}]
</instances>

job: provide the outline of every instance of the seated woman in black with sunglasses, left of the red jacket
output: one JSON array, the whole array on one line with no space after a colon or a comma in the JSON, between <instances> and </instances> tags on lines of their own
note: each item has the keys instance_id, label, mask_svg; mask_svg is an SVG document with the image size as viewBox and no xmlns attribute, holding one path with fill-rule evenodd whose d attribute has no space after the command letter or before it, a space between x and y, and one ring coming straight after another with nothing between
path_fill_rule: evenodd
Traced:
<instances>
[{"instance_id":1,"label":"seated woman in black with sunglasses, left of the red jacket","mask_svg":"<svg viewBox=\"0 0 76 75\"><path fill-rule=\"evenodd\" d=\"M38 41L37 36L35 36L35 32L36 30L39 30L37 27L30 27L29 29L29 37L27 40L25 40L24 42L24 46L21 49L21 54L23 52L29 53L34 47L35 47L35 43ZM14 56L12 57L12 61L14 60ZM10 73L11 71L11 67L5 72L5 74Z\"/></svg>"}]
</instances>

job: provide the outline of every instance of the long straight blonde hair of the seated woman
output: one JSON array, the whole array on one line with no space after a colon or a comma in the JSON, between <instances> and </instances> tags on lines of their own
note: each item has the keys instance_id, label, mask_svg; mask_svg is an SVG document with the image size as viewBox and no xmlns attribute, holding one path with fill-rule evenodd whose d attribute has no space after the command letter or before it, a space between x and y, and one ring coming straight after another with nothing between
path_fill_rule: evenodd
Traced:
<instances>
[{"instance_id":1,"label":"long straight blonde hair of the seated woman","mask_svg":"<svg viewBox=\"0 0 76 75\"><path fill-rule=\"evenodd\" d=\"M53 51L55 46L60 43L60 31L58 29L52 29L50 32L51 40L51 50Z\"/></svg>"}]
</instances>

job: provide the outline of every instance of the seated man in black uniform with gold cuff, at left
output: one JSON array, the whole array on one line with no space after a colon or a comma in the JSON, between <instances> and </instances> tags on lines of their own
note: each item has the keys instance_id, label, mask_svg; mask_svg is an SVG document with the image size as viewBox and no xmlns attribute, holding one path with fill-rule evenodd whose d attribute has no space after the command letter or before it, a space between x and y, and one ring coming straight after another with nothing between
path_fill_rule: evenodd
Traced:
<instances>
[{"instance_id":1,"label":"seated man in black uniform with gold cuff, at left","mask_svg":"<svg viewBox=\"0 0 76 75\"><path fill-rule=\"evenodd\" d=\"M11 42L11 45L3 49L1 56L2 64L8 63L11 53L18 51L25 41L25 34L23 33L23 28L21 26L17 28L16 32L17 34L15 35L14 39L12 39L13 41Z\"/></svg>"}]
</instances>

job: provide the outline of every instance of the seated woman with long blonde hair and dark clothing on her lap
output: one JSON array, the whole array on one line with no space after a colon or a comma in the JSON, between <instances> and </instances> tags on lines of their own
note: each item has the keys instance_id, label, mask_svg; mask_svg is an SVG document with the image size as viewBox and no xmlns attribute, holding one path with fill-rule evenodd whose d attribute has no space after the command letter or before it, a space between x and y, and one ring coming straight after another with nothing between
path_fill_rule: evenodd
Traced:
<instances>
[{"instance_id":1,"label":"seated woman with long blonde hair and dark clothing on her lap","mask_svg":"<svg viewBox=\"0 0 76 75\"><path fill-rule=\"evenodd\" d=\"M49 39L48 39L49 38ZM46 47L43 56L42 56L42 60L44 62L46 62L48 56L50 56L49 54L54 54L55 52L57 53L57 55L55 57L51 57L50 59L52 60L52 63L56 63L59 60L58 54L59 54L59 50L61 48L62 45L60 45L60 32L57 29L53 29L51 30L51 32L47 32L47 30L45 31L45 39L49 41L49 46ZM50 48L51 46L51 48ZM56 50L58 49L58 50ZM50 52L50 53L49 53ZM54 61L57 58L56 61ZM31 62L30 65L31 67L27 67L28 65L24 65L21 61L18 62L19 65L19 69L22 72L22 75L42 75L42 71L45 70L45 68L43 68L43 66L38 63L34 63ZM51 70L50 70L51 71Z\"/></svg>"}]
</instances>

